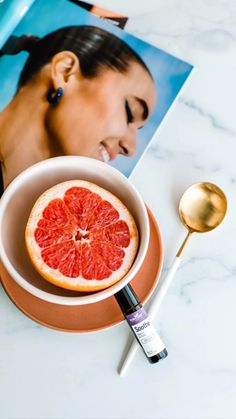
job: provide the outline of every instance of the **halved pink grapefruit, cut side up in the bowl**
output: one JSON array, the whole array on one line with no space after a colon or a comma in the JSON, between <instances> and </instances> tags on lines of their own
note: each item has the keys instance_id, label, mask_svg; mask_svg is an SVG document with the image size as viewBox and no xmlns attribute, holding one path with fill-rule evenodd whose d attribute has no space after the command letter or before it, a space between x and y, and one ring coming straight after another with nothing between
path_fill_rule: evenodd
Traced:
<instances>
[{"instance_id":1,"label":"halved pink grapefruit, cut side up in the bowl","mask_svg":"<svg viewBox=\"0 0 236 419\"><path fill-rule=\"evenodd\" d=\"M38 198L25 239L43 278L85 292L107 288L123 278L139 242L126 206L112 193L83 180L60 183Z\"/></svg>"}]
</instances>

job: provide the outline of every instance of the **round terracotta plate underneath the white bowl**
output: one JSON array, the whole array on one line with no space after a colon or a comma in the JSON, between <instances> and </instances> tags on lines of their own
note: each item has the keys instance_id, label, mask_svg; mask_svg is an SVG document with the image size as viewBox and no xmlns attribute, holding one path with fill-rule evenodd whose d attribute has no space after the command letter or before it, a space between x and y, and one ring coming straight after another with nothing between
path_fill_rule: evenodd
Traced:
<instances>
[{"instance_id":1,"label":"round terracotta plate underneath the white bowl","mask_svg":"<svg viewBox=\"0 0 236 419\"><path fill-rule=\"evenodd\" d=\"M163 247L158 225L148 209L150 241L147 255L138 274L131 281L140 301L151 296L160 276ZM92 332L114 326L124 320L115 297L98 303L65 306L43 301L21 288L0 265L2 285L13 303L32 320L64 332Z\"/></svg>"}]
</instances>

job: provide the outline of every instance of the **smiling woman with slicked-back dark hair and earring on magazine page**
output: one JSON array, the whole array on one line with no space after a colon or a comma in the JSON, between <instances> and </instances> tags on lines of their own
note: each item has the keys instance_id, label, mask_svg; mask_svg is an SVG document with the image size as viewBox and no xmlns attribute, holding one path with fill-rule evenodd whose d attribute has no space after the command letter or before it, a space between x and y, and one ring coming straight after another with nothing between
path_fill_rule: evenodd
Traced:
<instances>
[{"instance_id":1,"label":"smiling woman with slicked-back dark hair and earring on magazine page","mask_svg":"<svg viewBox=\"0 0 236 419\"><path fill-rule=\"evenodd\" d=\"M22 170L58 155L108 162L131 156L156 100L141 58L104 29L71 26L42 39L12 37L2 50L29 57L0 114L4 188Z\"/></svg>"}]
</instances>

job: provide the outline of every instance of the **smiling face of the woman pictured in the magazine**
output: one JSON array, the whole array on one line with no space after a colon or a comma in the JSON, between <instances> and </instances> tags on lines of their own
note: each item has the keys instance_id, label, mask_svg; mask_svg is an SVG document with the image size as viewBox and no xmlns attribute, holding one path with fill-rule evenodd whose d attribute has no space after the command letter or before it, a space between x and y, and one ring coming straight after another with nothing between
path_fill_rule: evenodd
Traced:
<instances>
[{"instance_id":1,"label":"smiling face of the woman pictured in the magazine","mask_svg":"<svg viewBox=\"0 0 236 419\"><path fill-rule=\"evenodd\" d=\"M49 105L45 125L55 154L81 155L108 162L132 156L137 130L153 111L156 89L148 72L131 63L122 74L104 69L93 79L80 72L68 78L64 96Z\"/></svg>"}]
</instances>

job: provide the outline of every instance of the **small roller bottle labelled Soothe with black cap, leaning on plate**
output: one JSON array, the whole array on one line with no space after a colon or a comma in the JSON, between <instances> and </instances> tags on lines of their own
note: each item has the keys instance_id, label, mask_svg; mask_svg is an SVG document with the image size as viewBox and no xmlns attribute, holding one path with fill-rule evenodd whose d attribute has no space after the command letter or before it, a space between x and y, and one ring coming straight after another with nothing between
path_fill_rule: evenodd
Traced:
<instances>
[{"instance_id":1,"label":"small roller bottle labelled Soothe with black cap, leaning on plate","mask_svg":"<svg viewBox=\"0 0 236 419\"><path fill-rule=\"evenodd\" d=\"M167 357L168 352L158 336L148 314L130 285L126 285L115 294L131 330L142 347L148 361L155 364Z\"/></svg>"}]
</instances>

